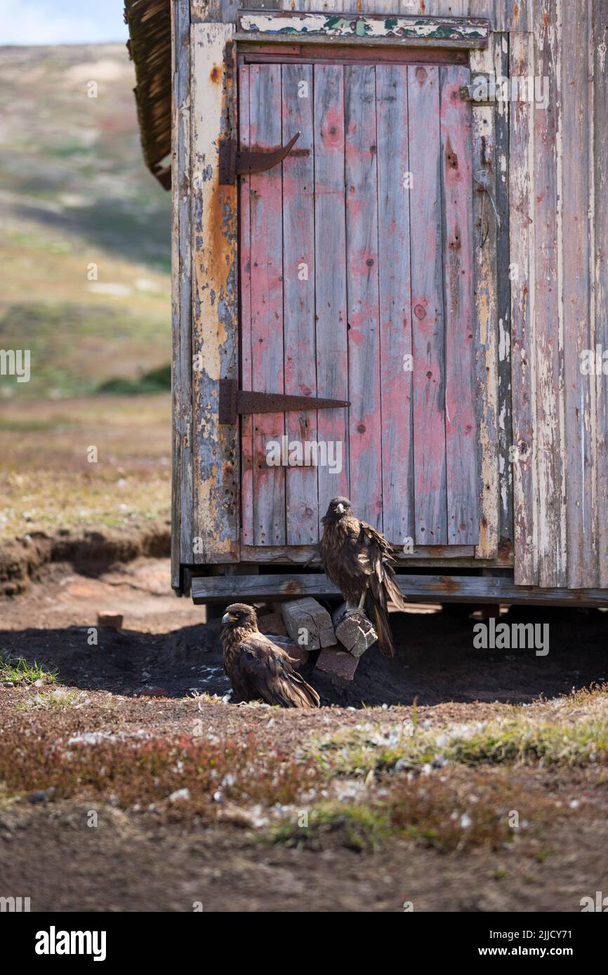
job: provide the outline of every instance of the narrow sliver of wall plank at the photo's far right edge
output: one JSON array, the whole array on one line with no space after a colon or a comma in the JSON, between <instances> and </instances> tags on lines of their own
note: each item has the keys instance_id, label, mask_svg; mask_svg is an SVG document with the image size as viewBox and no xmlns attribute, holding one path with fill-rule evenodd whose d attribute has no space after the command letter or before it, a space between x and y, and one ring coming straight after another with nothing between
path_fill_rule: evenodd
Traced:
<instances>
[{"instance_id":1,"label":"narrow sliver of wall plank at the photo's far right edge","mask_svg":"<svg viewBox=\"0 0 608 975\"><path fill-rule=\"evenodd\" d=\"M608 351L608 0L593 2L593 163L595 195L595 343ZM608 369L608 367L604 367ZM598 584L608 588L608 376L597 382Z\"/></svg>"}]
</instances>

